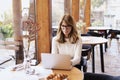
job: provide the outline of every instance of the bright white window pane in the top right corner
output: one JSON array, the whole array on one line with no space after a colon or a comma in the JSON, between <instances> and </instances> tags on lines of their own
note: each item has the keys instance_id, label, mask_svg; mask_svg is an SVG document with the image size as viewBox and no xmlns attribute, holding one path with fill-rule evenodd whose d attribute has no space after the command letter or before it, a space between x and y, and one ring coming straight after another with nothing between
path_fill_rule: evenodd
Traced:
<instances>
[{"instance_id":1,"label":"bright white window pane in the top right corner","mask_svg":"<svg viewBox=\"0 0 120 80\"><path fill-rule=\"evenodd\" d=\"M104 12L104 24L120 30L120 0L107 0Z\"/></svg>"}]
</instances>

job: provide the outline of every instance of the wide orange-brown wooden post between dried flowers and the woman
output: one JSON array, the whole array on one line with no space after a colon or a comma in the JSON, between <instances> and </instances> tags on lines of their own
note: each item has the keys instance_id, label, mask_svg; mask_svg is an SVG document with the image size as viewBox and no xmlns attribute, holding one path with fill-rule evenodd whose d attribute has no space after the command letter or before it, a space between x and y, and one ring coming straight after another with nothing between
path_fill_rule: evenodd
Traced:
<instances>
[{"instance_id":1,"label":"wide orange-brown wooden post between dried flowers and the woman","mask_svg":"<svg viewBox=\"0 0 120 80\"><path fill-rule=\"evenodd\" d=\"M36 21L40 31L38 32L38 60L42 52L50 52L51 49L51 0L36 0Z\"/></svg>"}]
</instances>

